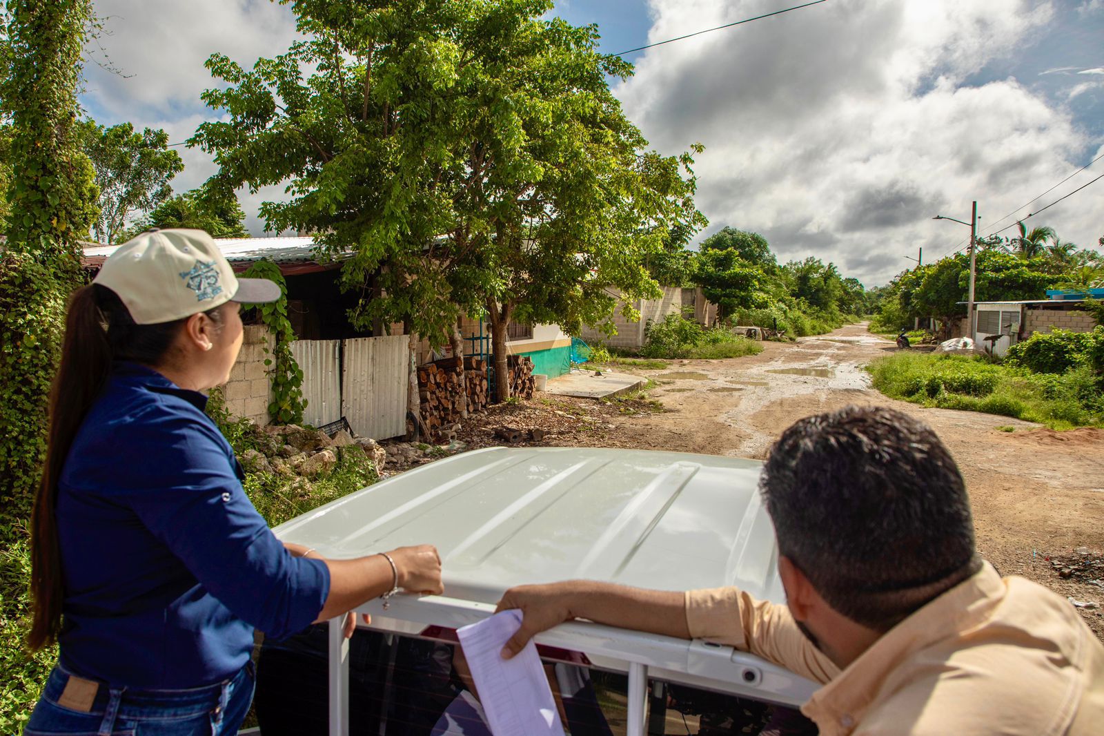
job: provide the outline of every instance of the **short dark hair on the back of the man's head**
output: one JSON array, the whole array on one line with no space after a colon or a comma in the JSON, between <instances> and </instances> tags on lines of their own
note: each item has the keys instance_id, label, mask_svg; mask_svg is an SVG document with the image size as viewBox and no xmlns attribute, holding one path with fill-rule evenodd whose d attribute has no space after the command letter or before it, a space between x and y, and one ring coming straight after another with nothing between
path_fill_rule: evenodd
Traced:
<instances>
[{"instance_id":1,"label":"short dark hair on the back of the man's head","mask_svg":"<svg viewBox=\"0 0 1104 736\"><path fill-rule=\"evenodd\" d=\"M783 432L760 483L778 551L838 612L887 631L977 564L969 498L935 432L847 407Z\"/></svg>"}]
</instances>

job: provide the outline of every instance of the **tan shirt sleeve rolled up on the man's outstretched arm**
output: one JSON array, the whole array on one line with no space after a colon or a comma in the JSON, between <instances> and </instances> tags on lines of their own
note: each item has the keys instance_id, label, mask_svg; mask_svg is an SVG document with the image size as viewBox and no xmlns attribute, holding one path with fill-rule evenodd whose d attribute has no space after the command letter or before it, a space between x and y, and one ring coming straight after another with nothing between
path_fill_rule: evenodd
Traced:
<instances>
[{"instance_id":1,"label":"tan shirt sleeve rolled up on the man's outstretched arm","mask_svg":"<svg viewBox=\"0 0 1104 736\"><path fill-rule=\"evenodd\" d=\"M751 652L819 683L839 674L797 628L786 606L757 600L739 588L709 588L687 591L686 614L694 639Z\"/></svg>"}]
</instances>

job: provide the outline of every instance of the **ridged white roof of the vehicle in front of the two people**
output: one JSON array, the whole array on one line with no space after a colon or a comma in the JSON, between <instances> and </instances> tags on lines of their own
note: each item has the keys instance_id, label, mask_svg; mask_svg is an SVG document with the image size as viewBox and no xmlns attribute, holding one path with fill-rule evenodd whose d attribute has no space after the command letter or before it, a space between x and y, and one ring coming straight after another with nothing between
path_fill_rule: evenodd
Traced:
<instances>
[{"instance_id":1,"label":"ridged white roof of the vehicle in front of the two people","mask_svg":"<svg viewBox=\"0 0 1104 736\"><path fill-rule=\"evenodd\" d=\"M783 601L752 460L490 448L423 465L278 527L329 557L434 544L450 597L570 578L667 590L735 585Z\"/></svg>"}]
</instances>

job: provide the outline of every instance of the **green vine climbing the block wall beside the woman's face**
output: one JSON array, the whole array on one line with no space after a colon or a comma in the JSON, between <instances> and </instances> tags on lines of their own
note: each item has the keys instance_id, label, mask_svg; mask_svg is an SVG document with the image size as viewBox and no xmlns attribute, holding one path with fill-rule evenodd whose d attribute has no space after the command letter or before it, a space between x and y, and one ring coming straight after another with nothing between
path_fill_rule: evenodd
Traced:
<instances>
[{"instance_id":1,"label":"green vine climbing the block wall beside the woman's face","mask_svg":"<svg viewBox=\"0 0 1104 736\"><path fill-rule=\"evenodd\" d=\"M273 348L265 348L269 357L265 359L268 366L268 378L273 387L273 400L268 404L268 416L277 424L299 424L302 422L302 410L307 402L302 398L302 370L291 355L291 343L295 332L287 318L287 282L272 261L262 259L251 265L243 274L245 278L267 278L279 284L280 297L272 304L257 304L261 322L273 334Z\"/></svg>"}]
</instances>

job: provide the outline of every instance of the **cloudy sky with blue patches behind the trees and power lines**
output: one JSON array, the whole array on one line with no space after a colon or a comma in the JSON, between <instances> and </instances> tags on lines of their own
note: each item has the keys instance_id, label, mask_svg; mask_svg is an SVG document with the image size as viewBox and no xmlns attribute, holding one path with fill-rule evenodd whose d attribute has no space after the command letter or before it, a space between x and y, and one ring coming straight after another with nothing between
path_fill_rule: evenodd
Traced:
<instances>
[{"instance_id":1,"label":"cloudy sky with blue patches behind the trees and power lines","mask_svg":"<svg viewBox=\"0 0 1104 736\"><path fill-rule=\"evenodd\" d=\"M602 50L619 53L800 2L561 0L555 12L596 23ZM267 0L95 7L109 34L93 55L123 74L91 65L82 104L172 143L213 115L199 99L209 54L252 65L295 38L288 8ZM1102 159L1043 193L1104 155L1102 39L1104 0L827 0L628 54L636 75L615 93L657 149L705 146L699 239L754 230L781 260L831 260L871 286L917 248L928 262L965 245L966 227L935 214L968 221L976 199L989 233L1104 174ZM178 150L178 191L213 172L202 151ZM254 234L257 206L279 196L242 193ZM1028 222L1095 245L1104 180Z\"/></svg>"}]
</instances>

